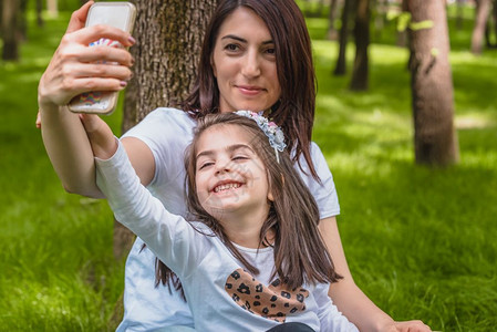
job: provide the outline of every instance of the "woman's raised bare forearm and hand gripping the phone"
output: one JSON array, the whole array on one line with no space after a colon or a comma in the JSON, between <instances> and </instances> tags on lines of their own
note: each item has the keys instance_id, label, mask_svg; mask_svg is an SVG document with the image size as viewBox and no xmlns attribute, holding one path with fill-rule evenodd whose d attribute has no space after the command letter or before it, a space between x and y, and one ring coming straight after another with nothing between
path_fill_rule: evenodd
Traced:
<instances>
[{"instance_id":1,"label":"woman's raised bare forearm and hand gripping the phone","mask_svg":"<svg viewBox=\"0 0 497 332\"><path fill-rule=\"evenodd\" d=\"M131 35L112 27L84 28L93 1L75 11L66 33L43 73L39 90L40 126L43 144L64 188L91 197L102 197L95 184L93 154L77 114L65 105L75 95L92 90L118 91L130 79L132 56L124 49L89 48L100 38L130 46ZM117 65L96 64L116 62Z\"/></svg>"}]
</instances>

